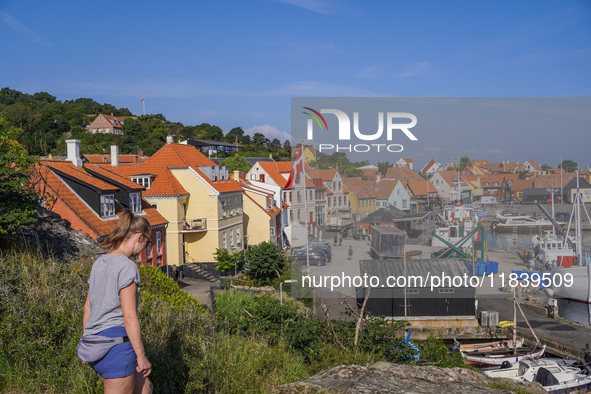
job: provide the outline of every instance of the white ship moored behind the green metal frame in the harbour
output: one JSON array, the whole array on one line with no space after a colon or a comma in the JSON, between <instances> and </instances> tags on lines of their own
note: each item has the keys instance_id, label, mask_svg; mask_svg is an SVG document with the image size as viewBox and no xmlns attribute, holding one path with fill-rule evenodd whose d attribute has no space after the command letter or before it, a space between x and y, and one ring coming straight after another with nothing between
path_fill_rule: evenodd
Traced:
<instances>
[{"instance_id":1,"label":"white ship moored behind the green metal frame in the harbour","mask_svg":"<svg viewBox=\"0 0 591 394\"><path fill-rule=\"evenodd\" d=\"M445 206L441 213L436 216L437 226L431 241L431 246L447 247L445 242L452 245L457 245L466 236L470 234L478 225L478 215L476 215L474 208L464 203L464 201L455 201L451 205ZM459 245L462 248L470 250L472 243L480 240L480 234L470 237L463 244Z\"/></svg>"}]
</instances>

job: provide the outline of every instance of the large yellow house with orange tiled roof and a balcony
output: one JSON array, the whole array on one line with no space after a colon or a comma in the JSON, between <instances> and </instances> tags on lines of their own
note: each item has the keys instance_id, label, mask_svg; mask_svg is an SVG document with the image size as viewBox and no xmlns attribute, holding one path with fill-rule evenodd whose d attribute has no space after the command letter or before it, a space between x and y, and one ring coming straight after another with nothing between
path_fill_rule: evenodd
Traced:
<instances>
[{"instance_id":1,"label":"large yellow house with orange tiled roof and a balcony","mask_svg":"<svg viewBox=\"0 0 591 394\"><path fill-rule=\"evenodd\" d=\"M144 164L117 172L143 185L144 198L168 220L168 263L213 262L216 248L242 250L243 190L190 145L164 145Z\"/></svg>"}]
</instances>

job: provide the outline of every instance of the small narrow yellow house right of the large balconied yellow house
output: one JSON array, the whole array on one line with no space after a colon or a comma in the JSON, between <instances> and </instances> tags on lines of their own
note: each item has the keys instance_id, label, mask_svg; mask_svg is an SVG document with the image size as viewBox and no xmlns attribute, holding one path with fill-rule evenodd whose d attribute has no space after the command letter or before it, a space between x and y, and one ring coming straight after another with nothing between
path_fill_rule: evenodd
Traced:
<instances>
[{"instance_id":1,"label":"small narrow yellow house right of the large balconied yellow house","mask_svg":"<svg viewBox=\"0 0 591 394\"><path fill-rule=\"evenodd\" d=\"M273 192L248 181L242 182L241 186L244 189L244 230L248 234L248 244L273 242L282 245L282 209L275 205ZM287 204L283 205L287 207Z\"/></svg>"}]
</instances>

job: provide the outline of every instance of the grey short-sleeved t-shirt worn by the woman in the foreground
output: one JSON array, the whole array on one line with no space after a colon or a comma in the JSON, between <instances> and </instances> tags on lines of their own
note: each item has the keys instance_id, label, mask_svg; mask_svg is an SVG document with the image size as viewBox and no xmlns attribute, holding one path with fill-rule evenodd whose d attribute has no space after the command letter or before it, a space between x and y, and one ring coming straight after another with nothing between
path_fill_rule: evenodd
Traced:
<instances>
[{"instance_id":1,"label":"grey short-sleeved t-shirt worn by the woman in the foreground","mask_svg":"<svg viewBox=\"0 0 591 394\"><path fill-rule=\"evenodd\" d=\"M94 262L88 279L90 318L85 334L125 326L119 292L133 282L138 285L139 298L140 273L137 265L126 256L105 254Z\"/></svg>"}]
</instances>

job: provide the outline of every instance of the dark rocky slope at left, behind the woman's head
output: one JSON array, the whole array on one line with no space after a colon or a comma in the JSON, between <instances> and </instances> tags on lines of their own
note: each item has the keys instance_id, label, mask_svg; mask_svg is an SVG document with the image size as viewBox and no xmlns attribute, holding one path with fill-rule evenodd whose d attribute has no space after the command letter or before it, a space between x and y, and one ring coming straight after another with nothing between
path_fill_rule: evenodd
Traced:
<instances>
[{"instance_id":1,"label":"dark rocky slope at left, behind the woman's head","mask_svg":"<svg viewBox=\"0 0 591 394\"><path fill-rule=\"evenodd\" d=\"M38 220L23 226L15 234L3 235L0 247L41 251L46 256L62 260L71 257L96 259L105 251L98 242L70 227L70 222L58 214L40 209Z\"/></svg>"}]
</instances>

